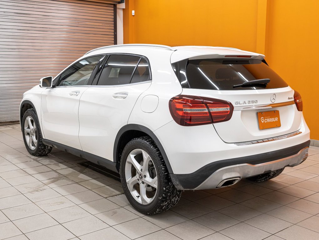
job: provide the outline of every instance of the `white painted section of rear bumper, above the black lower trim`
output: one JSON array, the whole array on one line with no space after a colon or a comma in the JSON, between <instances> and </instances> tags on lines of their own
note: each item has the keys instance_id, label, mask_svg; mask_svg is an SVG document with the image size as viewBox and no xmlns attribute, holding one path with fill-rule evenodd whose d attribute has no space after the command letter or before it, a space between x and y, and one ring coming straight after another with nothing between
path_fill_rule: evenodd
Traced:
<instances>
[{"instance_id":1,"label":"white painted section of rear bumper, above the black lower trim","mask_svg":"<svg viewBox=\"0 0 319 240\"><path fill-rule=\"evenodd\" d=\"M285 139L236 145L222 141L213 124L184 127L172 120L154 131L154 135L167 155L171 166L169 173L190 174L214 162L240 157L247 159L249 156L296 146L310 139L310 131L303 118L298 131L301 133Z\"/></svg>"}]
</instances>

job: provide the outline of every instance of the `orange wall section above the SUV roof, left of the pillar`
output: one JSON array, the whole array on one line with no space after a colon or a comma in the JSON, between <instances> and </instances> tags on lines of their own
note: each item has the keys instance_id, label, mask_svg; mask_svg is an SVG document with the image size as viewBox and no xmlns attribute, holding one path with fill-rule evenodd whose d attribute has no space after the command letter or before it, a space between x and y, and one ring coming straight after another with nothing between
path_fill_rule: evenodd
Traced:
<instances>
[{"instance_id":1,"label":"orange wall section above the SUV roof, left of the pillar","mask_svg":"<svg viewBox=\"0 0 319 240\"><path fill-rule=\"evenodd\" d=\"M126 0L124 43L225 46L253 51L257 2ZM135 16L131 10L135 10ZM133 22L130 27L125 25L127 18Z\"/></svg>"}]
</instances>

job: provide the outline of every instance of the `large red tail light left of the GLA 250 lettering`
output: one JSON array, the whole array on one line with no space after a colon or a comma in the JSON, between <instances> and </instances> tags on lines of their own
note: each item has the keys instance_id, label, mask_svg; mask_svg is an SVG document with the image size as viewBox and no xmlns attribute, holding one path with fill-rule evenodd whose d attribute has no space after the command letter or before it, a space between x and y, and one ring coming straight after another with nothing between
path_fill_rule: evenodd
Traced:
<instances>
[{"instance_id":1,"label":"large red tail light left of the GLA 250 lettering","mask_svg":"<svg viewBox=\"0 0 319 240\"><path fill-rule=\"evenodd\" d=\"M230 102L189 95L178 95L169 101L169 111L176 123L197 126L227 121L232 117Z\"/></svg>"}]
</instances>

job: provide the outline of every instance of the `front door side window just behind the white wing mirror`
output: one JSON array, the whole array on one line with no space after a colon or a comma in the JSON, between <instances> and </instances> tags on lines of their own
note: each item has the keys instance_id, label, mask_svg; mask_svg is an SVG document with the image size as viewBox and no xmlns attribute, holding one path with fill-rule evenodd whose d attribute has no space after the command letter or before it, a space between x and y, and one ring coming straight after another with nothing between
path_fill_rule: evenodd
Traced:
<instances>
[{"instance_id":1,"label":"front door side window just behind the white wing mirror","mask_svg":"<svg viewBox=\"0 0 319 240\"><path fill-rule=\"evenodd\" d=\"M73 64L61 74L58 86L87 85L100 58L101 56L89 57Z\"/></svg>"}]
</instances>

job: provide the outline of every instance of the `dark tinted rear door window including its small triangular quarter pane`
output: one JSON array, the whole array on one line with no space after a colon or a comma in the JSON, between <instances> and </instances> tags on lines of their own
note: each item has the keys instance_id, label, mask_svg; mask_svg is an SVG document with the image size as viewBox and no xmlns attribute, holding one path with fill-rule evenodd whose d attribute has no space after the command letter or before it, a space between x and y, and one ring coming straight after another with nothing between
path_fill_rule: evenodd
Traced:
<instances>
[{"instance_id":1,"label":"dark tinted rear door window including its small triangular quarter pane","mask_svg":"<svg viewBox=\"0 0 319 240\"><path fill-rule=\"evenodd\" d=\"M97 85L124 85L149 80L148 63L132 55L110 55Z\"/></svg>"}]
</instances>

